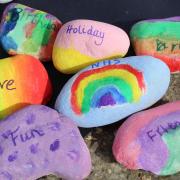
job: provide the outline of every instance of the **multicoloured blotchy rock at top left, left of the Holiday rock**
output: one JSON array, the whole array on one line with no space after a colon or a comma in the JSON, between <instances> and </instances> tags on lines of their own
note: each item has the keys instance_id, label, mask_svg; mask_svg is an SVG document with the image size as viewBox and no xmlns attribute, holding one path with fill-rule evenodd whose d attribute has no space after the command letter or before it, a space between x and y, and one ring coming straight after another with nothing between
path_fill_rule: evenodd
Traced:
<instances>
[{"instance_id":1,"label":"multicoloured blotchy rock at top left, left of the Holiday rock","mask_svg":"<svg viewBox=\"0 0 180 180\"><path fill-rule=\"evenodd\" d=\"M11 3L2 17L0 42L10 55L29 54L47 61L60 26L61 22L46 12Z\"/></svg>"}]
</instances>

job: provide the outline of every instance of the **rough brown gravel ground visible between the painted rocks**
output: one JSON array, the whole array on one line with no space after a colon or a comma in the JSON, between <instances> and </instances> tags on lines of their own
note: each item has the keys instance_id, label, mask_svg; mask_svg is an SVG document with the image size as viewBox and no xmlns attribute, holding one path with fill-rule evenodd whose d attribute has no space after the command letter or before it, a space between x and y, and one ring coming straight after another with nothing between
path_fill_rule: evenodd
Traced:
<instances>
[{"instance_id":1,"label":"rough brown gravel ground visible between the painted rocks","mask_svg":"<svg viewBox=\"0 0 180 180\"><path fill-rule=\"evenodd\" d=\"M168 92L154 106L180 100L180 74L173 74ZM84 137L92 157L92 172L87 180L179 180L180 173L172 176L158 177L151 173L132 171L118 164L112 155L112 143L118 127L122 122L113 125L94 128ZM39 180L59 180L48 176Z\"/></svg>"}]
</instances>

